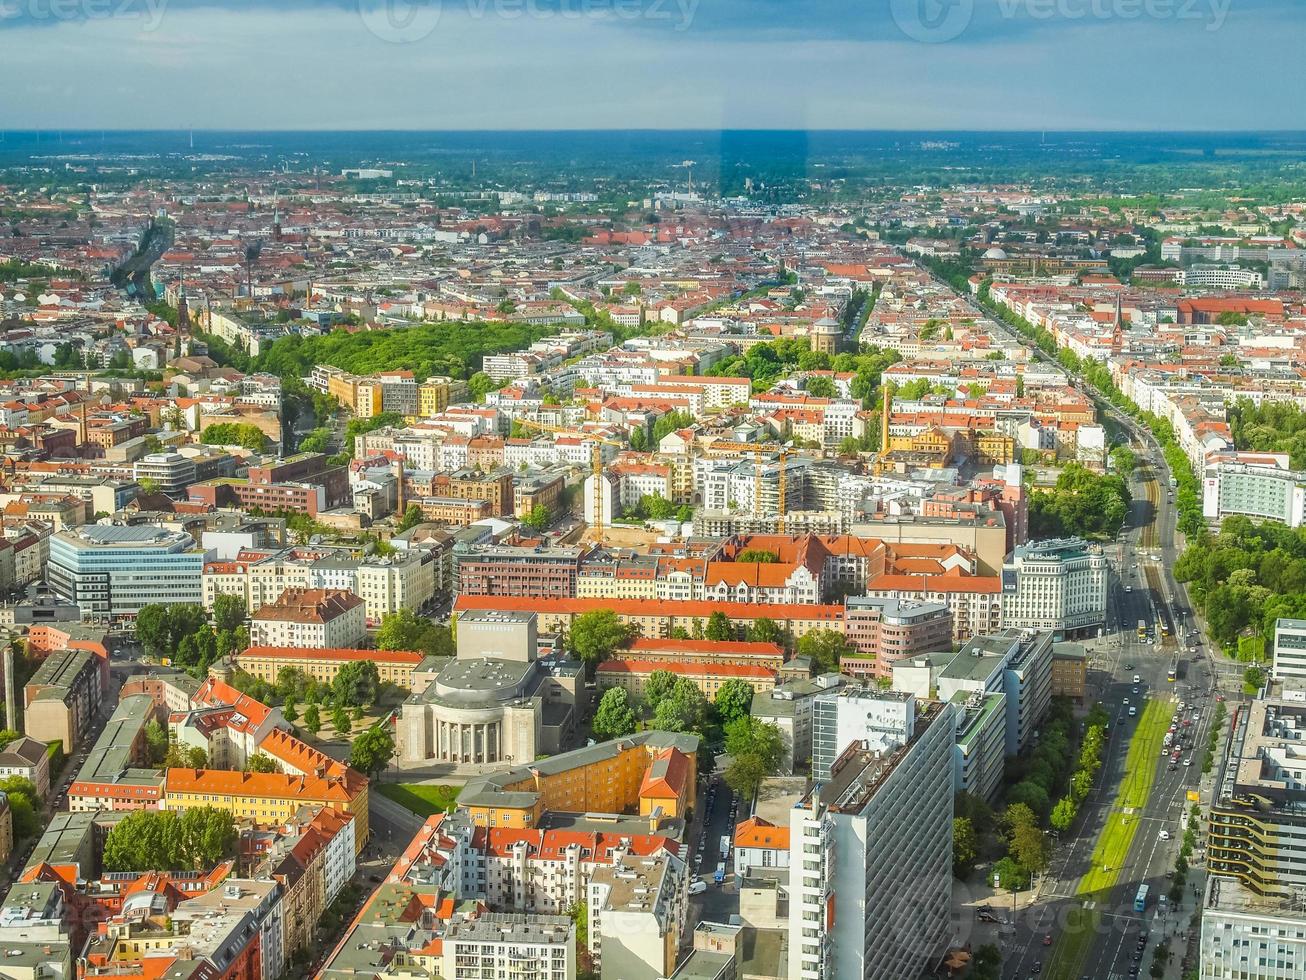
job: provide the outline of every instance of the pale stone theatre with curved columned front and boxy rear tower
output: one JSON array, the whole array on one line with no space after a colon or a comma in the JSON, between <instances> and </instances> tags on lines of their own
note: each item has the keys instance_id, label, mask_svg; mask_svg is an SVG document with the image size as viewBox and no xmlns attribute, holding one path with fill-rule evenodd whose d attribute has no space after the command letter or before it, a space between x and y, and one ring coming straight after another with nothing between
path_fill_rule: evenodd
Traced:
<instances>
[{"instance_id":1,"label":"pale stone theatre with curved columned front and boxy rear tower","mask_svg":"<svg viewBox=\"0 0 1306 980\"><path fill-rule=\"evenodd\" d=\"M584 672L537 659L535 614L464 613L457 630L457 657L404 702L400 760L520 766L569 747Z\"/></svg>"}]
</instances>

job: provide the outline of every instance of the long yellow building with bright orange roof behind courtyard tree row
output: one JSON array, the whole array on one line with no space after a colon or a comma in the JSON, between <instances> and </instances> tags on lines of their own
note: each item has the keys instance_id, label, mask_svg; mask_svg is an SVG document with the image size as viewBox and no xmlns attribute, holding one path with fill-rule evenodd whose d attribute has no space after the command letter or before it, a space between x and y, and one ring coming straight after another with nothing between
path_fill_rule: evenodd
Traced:
<instances>
[{"instance_id":1,"label":"long yellow building with bright orange roof behind courtyard tree row","mask_svg":"<svg viewBox=\"0 0 1306 980\"><path fill-rule=\"evenodd\" d=\"M213 806L239 823L286 823L300 806L329 806L354 815L355 852L367 843L367 779L340 767L340 775L293 776L285 772L168 770L161 810Z\"/></svg>"}]
</instances>

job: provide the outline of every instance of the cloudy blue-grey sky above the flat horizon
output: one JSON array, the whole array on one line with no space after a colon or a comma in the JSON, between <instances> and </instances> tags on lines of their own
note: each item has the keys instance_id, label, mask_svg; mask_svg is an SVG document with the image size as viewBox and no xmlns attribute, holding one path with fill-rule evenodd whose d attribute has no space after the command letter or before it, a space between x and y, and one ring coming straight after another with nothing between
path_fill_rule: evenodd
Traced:
<instances>
[{"instance_id":1,"label":"cloudy blue-grey sky above the flat horizon","mask_svg":"<svg viewBox=\"0 0 1306 980\"><path fill-rule=\"evenodd\" d=\"M1303 129L1299 0L0 0L7 129Z\"/></svg>"}]
</instances>

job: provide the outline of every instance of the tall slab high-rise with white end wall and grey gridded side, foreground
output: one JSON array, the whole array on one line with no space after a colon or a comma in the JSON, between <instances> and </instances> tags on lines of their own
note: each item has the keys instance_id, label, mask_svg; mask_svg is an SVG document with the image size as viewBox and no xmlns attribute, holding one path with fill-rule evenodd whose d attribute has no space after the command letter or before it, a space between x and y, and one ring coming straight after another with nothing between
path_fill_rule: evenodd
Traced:
<instances>
[{"instance_id":1,"label":"tall slab high-rise with white end wall and grey gridded side, foreground","mask_svg":"<svg viewBox=\"0 0 1306 980\"><path fill-rule=\"evenodd\" d=\"M912 740L859 745L789 811L789 977L901 980L949 938L953 707Z\"/></svg>"}]
</instances>

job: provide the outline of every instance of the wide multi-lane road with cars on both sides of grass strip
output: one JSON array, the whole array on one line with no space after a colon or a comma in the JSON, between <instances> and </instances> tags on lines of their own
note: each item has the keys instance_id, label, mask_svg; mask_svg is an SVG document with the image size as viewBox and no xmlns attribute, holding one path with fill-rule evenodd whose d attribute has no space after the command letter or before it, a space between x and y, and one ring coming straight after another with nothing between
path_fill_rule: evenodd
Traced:
<instances>
[{"instance_id":1,"label":"wide multi-lane road with cars on both sides of grass strip","mask_svg":"<svg viewBox=\"0 0 1306 980\"><path fill-rule=\"evenodd\" d=\"M1071 980L1081 975L1127 977L1135 966L1145 973L1155 938L1165 932L1173 933L1178 926L1179 916L1173 912L1162 916L1156 896L1170 887L1166 873L1174 868L1182 840L1181 823L1191 805L1186 800L1187 793L1199 787L1202 750L1213 699L1212 674L1204 657L1187 649L1191 617L1186 614L1187 601L1170 571L1178 550L1174 507L1168 499L1166 481L1164 461L1145 463L1132 485L1135 499L1113 555L1117 574L1107 596L1106 634L1088 644L1091 696L1111 713L1106 757L1097 785L1081 808L1080 826L1054 845L1051 865L1036 885L1034 903L1015 924L1007 945L1004 976L1008 977L1041 973L1054 953L1043 945L1043 938L1051 936L1055 942L1074 928L1076 920L1071 909L1085 907L1084 898L1076 898L1080 879L1092 868L1093 849L1109 821L1134 819L1138 828L1115 886L1105 902L1088 909L1097 913L1098 936L1091 943L1084 963L1079 964L1081 972L1063 976ZM1153 555L1161 561L1152 561ZM1148 639L1139 636L1140 621L1147 623ZM1171 625L1170 636L1160 635L1161 623ZM1171 668L1182 679L1169 679ZM1113 804L1122 783L1134 775L1126 770L1126 758L1143 706L1149 699L1162 699L1170 713L1178 712L1178 704L1185 702L1194 734L1181 754L1179 764L1171 764L1168 755L1145 760L1145 764L1156 767L1147 804L1141 813L1123 814ZM1202 712L1196 720L1192 720L1194 703ZM1131 716L1131 708L1138 713ZM1192 764L1182 764L1185 760ZM1169 840L1161 839L1162 830L1169 831ZM1139 916L1134 912L1134 898L1143 882L1149 886L1152 902L1148 911ZM1187 915L1183 917L1186 920ZM1147 928L1152 939L1144 951L1136 954L1140 928Z\"/></svg>"}]
</instances>

